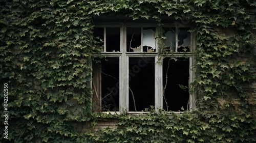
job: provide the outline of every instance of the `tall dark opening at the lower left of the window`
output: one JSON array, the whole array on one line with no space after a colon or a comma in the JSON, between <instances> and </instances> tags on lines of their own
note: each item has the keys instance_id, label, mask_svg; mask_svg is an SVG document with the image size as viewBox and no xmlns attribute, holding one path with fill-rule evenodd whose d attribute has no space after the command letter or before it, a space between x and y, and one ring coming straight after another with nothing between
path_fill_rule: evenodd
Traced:
<instances>
[{"instance_id":1,"label":"tall dark opening at the lower left of the window","mask_svg":"<svg viewBox=\"0 0 256 143\"><path fill-rule=\"evenodd\" d=\"M119 110L119 58L101 61L101 105L103 111Z\"/></svg>"}]
</instances>

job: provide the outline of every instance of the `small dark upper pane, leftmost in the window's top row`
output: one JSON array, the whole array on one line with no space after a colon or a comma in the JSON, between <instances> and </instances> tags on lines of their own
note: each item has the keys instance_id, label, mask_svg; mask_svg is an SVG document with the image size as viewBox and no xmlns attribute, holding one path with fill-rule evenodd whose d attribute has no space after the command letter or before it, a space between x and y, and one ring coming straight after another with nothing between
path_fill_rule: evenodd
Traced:
<instances>
[{"instance_id":1,"label":"small dark upper pane, leftmost in the window's top row","mask_svg":"<svg viewBox=\"0 0 256 143\"><path fill-rule=\"evenodd\" d=\"M120 51L120 27L106 27L106 51Z\"/></svg>"}]
</instances>

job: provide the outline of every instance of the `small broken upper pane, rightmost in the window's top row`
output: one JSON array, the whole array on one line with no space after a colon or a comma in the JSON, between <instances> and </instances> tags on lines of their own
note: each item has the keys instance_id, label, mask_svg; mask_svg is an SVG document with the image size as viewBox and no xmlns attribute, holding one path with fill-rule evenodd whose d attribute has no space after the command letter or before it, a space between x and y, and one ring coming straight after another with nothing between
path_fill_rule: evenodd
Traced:
<instances>
[{"instance_id":1,"label":"small broken upper pane, rightmost in the window's top row","mask_svg":"<svg viewBox=\"0 0 256 143\"><path fill-rule=\"evenodd\" d=\"M189 28L178 29L178 51L190 51Z\"/></svg>"}]
</instances>

